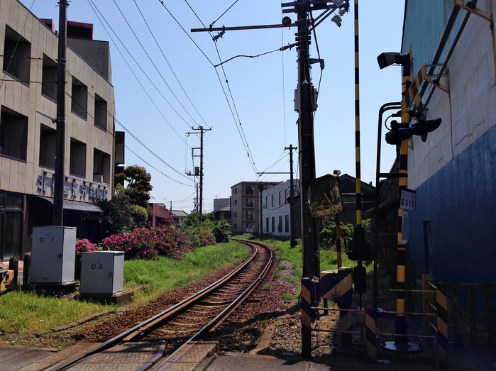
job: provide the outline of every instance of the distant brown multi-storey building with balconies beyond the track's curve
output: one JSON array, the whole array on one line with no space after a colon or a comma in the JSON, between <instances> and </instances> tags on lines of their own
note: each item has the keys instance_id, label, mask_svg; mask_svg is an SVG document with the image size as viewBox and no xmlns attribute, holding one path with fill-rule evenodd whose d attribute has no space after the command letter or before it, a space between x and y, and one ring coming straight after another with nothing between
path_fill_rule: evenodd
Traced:
<instances>
[{"instance_id":1,"label":"distant brown multi-storey building with balconies beyond the track's curve","mask_svg":"<svg viewBox=\"0 0 496 371\"><path fill-rule=\"evenodd\" d=\"M239 182L231 187L231 231L258 234L260 231L260 192L279 182Z\"/></svg>"}]
</instances>

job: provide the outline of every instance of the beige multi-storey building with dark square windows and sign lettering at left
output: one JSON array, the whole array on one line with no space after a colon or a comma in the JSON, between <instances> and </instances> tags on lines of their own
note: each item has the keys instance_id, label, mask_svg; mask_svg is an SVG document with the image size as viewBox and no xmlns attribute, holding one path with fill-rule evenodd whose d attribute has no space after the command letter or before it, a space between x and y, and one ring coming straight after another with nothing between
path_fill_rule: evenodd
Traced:
<instances>
[{"instance_id":1,"label":"beige multi-storey building with dark square windows and sign lettering at left","mask_svg":"<svg viewBox=\"0 0 496 371\"><path fill-rule=\"evenodd\" d=\"M52 21L0 1L0 261L22 258L32 228L52 223L56 124L46 116L57 116L57 45ZM91 238L99 228L85 215L101 211L92 200L110 199L114 187L109 43L69 22L67 45L64 225Z\"/></svg>"}]
</instances>

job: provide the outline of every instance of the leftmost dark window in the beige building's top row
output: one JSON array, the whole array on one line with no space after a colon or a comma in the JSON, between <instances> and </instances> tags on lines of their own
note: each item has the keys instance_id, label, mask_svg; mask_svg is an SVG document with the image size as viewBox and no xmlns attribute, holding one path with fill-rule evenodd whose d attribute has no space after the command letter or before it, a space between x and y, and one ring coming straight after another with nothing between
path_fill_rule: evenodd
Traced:
<instances>
[{"instance_id":1,"label":"leftmost dark window in the beige building's top row","mask_svg":"<svg viewBox=\"0 0 496 371\"><path fill-rule=\"evenodd\" d=\"M29 85L31 43L12 28L5 28L4 72Z\"/></svg>"}]
</instances>

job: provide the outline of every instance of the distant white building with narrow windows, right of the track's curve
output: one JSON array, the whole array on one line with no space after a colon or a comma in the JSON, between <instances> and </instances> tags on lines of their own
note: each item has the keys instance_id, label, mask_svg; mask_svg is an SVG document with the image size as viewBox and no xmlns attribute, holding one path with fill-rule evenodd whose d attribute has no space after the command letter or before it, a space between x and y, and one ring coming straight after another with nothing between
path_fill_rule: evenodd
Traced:
<instances>
[{"instance_id":1,"label":"distant white building with narrow windows, right of the track's curve","mask_svg":"<svg viewBox=\"0 0 496 371\"><path fill-rule=\"evenodd\" d=\"M291 218L290 218L290 188L291 181L287 180L276 184L262 192L262 223L263 233L279 236L290 237ZM293 180L294 194L299 193L299 180ZM299 204L298 204L299 205ZM295 214L297 206L294 206ZM297 218L297 228L301 228L301 219ZM301 233L300 233L301 234Z\"/></svg>"}]
</instances>

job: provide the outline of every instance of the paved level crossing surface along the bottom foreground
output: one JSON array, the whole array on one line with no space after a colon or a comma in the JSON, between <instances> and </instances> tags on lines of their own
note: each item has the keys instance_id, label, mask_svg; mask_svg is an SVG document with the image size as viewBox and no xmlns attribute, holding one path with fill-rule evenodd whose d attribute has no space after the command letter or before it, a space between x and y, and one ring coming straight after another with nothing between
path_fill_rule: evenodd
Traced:
<instances>
[{"instance_id":1,"label":"paved level crossing surface along the bottom foreground","mask_svg":"<svg viewBox=\"0 0 496 371\"><path fill-rule=\"evenodd\" d=\"M73 355L88 346L80 343L71 348L57 352L38 348L23 348L13 345L0 345L0 370L6 371L40 371L58 361ZM94 355L82 365L75 365L71 370L138 370L159 351L158 343L128 343L112 348L99 355ZM385 353L387 354L387 353ZM215 343L195 344L168 368L170 371L253 371L253 370L287 370L287 371L355 371L355 370L404 370L432 371L435 365L419 361L419 355L401 355L390 353L389 359L371 362L365 356L329 355L314 358L311 361L299 357L273 357L253 353L218 353ZM452 371L495 371L496 352L494 348L451 348L450 365ZM89 362L88 362L89 361Z\"/></svg>"}]
</instances>

